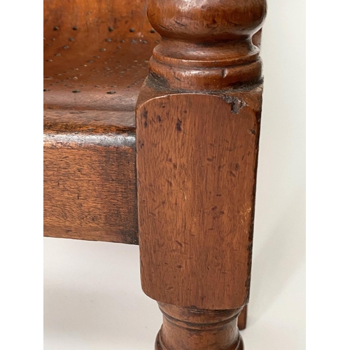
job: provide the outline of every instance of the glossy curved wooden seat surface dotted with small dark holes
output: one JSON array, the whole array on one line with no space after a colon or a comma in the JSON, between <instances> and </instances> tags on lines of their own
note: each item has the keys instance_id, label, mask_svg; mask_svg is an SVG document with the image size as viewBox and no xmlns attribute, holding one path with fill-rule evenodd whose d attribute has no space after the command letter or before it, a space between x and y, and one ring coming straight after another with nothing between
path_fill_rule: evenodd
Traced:
<instances>
[{"instance_id":1,"label":"glossy curved wooden seat surface dotted with small dark holes","mask_svg":"<svg viewBox=\"0 0 350 350\"><path fill-rule=\"evenodd\" d=\"M134 111L159 40L144 0L45 0L44 106Z\"/></svg>"}]
</instances>

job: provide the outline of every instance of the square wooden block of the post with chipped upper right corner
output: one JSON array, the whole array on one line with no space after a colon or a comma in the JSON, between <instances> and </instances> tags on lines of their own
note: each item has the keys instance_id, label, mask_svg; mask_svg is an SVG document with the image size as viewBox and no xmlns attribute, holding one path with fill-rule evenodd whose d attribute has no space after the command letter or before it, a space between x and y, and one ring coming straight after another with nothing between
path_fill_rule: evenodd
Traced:
<instances>
[{"instance_id":1,"label":"square wooden block of the post with chipped upper right corner","mask_svg":"<svg viewBox=\"0 0 350 350\"><path fill-rule=\"evenodd\" d=\"M139 106L141 282L167 304L248 302L261 87Z\"/></svg>"}]
</instances>

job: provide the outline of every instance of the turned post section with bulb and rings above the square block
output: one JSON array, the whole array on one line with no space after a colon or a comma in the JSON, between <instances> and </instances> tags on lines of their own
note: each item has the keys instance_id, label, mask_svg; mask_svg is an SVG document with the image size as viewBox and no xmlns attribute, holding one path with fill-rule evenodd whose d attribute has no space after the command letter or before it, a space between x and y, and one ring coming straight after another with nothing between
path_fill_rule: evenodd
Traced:
<instances>
[{"instance_id":1,"label":"turned post section with bulb and rings above the square block","mask_svg":"<svg viewBox=\"0 0 350 350\"><path fill-rule=\"evenodd\" d=\"M183 90L260 81L259 49L251 38L266 9L266 0L148 0L148 19L162 36L151 78Z\"/></svg>"}]
</instances>

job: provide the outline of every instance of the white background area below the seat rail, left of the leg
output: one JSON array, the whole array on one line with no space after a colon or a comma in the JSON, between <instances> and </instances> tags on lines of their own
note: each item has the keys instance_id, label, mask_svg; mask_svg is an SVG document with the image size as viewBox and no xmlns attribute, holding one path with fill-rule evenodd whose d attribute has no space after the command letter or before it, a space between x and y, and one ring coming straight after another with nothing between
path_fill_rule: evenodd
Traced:
<instances>
[{"instance_id":1,"label":"white background area below the seat rail, left of the leg","mask_svg":"<svg viewBox=\"0 0 350 350\"><path fill-rule=\"evenodd\" d=\"M138 246L45 239L45 254L45 349L153 349L162 315L139 286Z\"/></svg>"}]
</instances>

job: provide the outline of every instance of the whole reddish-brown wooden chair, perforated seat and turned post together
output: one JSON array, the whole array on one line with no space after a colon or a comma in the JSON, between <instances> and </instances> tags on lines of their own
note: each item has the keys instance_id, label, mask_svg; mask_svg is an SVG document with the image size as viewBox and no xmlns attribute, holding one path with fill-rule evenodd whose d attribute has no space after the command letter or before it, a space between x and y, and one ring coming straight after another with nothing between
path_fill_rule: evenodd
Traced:
<instances>
[{"instance_id":1,"label":"whole reddish-brown wooden chair, perforated seat and turned post together","mask_svg":"<svg viewBox=\"0 0 350 350\"><path fill-rule=\"evenodd\" d=\"M147 10L44 1L44 235L140 242L155 349L241 350L266 2Z\"/></svg>"}]
</instances>

